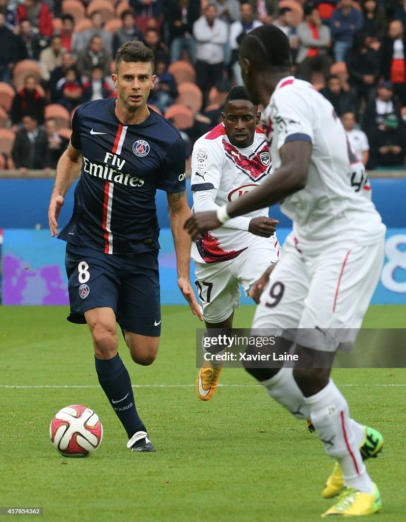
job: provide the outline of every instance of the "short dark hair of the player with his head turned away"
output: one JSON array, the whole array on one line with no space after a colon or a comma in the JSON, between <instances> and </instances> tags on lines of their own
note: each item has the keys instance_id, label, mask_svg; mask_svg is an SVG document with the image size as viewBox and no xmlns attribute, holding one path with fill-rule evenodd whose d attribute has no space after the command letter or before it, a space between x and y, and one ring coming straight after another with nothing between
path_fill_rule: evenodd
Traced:
<instances>
[{"instance_id":1,"label":"short dark hair of the player with his head turned away","mask_svg":"<svg viewBox=\"0 0 406 522\"><path fill-rule=\"evenodd\" d=\"M276 26L264 25L245 35L239 54L256 69L285 73L291 66L289 51L286 34Z\"/></svg>"}]
</instances>

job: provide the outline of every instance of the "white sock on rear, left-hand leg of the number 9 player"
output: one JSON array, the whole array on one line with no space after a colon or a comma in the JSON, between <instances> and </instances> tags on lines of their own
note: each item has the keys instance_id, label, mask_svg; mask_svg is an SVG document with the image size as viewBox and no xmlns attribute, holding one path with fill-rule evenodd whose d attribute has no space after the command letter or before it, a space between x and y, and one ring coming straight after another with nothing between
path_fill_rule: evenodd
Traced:
<instances>
[{"instance_id":1,"label":"white sock on rear, left-hand leg of the number 9 player","mask_svg":"<svg viewBox=\"0 0 406 522\"><path fill-rule=\"evenodd\" d=\"M259 384L265 386L268 395L290 411L296 419L310 419L310 409L293 378L293 368L282 367L276 375Z\"/></svg>"}]
</instances>

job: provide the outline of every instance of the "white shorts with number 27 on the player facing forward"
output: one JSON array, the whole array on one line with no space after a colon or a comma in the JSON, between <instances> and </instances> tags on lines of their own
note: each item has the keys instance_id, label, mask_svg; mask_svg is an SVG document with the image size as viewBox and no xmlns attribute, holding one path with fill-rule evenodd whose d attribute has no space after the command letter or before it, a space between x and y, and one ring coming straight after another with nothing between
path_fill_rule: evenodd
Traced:
<instances>
[{"instance_id":1,"label":"white shorts with number 27 on the player facing forward","mask_svg":"<svg viewBox=\"0 0 406 522\"><path fill-rule=\"evenodd\" d=\"M262 244L248 247L229 261L195 262L195 284L205 321L215 324L228 319L234 309L240 307L240 285L248 295L254 282L271 263L276 263L278 252L273 245Z\"/></svg>"}]
</instances>

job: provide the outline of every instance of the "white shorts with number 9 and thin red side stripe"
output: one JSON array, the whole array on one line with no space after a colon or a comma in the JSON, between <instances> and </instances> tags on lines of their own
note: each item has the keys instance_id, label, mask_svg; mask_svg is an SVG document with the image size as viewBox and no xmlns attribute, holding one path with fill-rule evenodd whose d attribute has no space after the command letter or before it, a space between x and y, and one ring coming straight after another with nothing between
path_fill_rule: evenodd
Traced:
<instances>
[{"instance_id":1,"label":"white shorts with number 9 and thin red side stripe","mask_svg":"<svg viewBox=\"0 0 406 522\"><path fill-rule=\"evenodd\" d=\"M294 337L284 337L323 351L353 342L379 281L384 245L385 238L371 245L354 239L304 255L289 236L257 306L255 334L264 334L257 329L297 329Z\"/></svg>"}]
</instances>

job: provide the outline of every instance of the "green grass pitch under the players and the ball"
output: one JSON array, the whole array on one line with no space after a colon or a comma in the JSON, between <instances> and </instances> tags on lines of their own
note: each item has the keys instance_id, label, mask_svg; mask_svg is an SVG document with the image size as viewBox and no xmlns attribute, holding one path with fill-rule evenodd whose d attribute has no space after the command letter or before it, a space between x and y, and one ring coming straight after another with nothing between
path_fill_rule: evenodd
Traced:
<instances>
[{"instance_id":1,"label":"green grass pitch under the players and the ball","mask_svg":"<svg viewBox=\"0 0 406 522\"><path fill-rule=\"evenodd\" d=\"M405 312L372 306L364 326L402 327ZM235 326L249 326L253 313L237 311ZM63 307L0 308L0 507L43 507L43 517L24 519L50 522L320 520L332 504L321 497L332 461L316 434L243 370L224 370L224 386L199 401L200 325L188 308L163 307L152 366L133 364L121 341L154 454L126 448L98 386L87 327L69 324L66 315ZM405 520L406 371L340 369L333 376L352 416L385 435L383 454L367 462L384 504L371 520ZM64 458L49 441L54 413L69 404L90 406L102 420L103 442L89 458Z\"/></svg>"}]
</instances>

